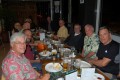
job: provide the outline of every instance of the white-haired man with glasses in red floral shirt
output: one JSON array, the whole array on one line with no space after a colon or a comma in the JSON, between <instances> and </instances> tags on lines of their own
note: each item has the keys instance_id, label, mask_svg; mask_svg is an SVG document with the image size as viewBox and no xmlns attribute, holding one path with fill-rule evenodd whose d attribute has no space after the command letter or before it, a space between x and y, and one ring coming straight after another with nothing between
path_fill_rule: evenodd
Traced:
<instances>
[{"instance_id":1,"label":"white-haired man with glasses in red floral shirt","mask_svg":"<svg viewBox=\"0 0 120 80\"><path fill-rule=\"evenodd\" d=\"M24 56L26 37L22 33L14 33L10 38L11 49L2 62L2 72L6 80L49 80L49 74L40 79L29 60Z\"/></svg>"}]
</instances>

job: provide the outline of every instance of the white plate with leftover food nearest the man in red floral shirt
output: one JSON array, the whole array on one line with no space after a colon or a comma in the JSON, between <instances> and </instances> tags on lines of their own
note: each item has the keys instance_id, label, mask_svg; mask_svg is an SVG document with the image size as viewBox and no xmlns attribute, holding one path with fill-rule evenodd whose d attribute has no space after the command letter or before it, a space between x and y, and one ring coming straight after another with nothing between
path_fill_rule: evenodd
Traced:
<instances>
[{"instance_id":1,"label":"white plate with leftover food nearest the man in red floral shirt","mask_svg":"<svg viewBox=\"0 0 120 80\"><path fill-rule=\"evenodd\" d=\"M45 70L48 72L59 72L61 71L63 68L59 63L48 63L45 66Z\"/></svg>"}]
</instances>

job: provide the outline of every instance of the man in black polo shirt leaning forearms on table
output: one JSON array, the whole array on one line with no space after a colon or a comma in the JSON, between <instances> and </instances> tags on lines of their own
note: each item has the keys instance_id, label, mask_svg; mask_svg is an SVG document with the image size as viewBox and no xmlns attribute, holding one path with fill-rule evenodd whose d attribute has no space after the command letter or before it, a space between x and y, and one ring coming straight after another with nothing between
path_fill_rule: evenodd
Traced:
<instances>
[{"instance_id":1,"label":"man in black polo shirt leaning forearms on table","mask_svg":"<svg viewBox=\"0 0 120 80\"><path fill-rule=\"evenodd\" d=\"M97 52L98 59L89 60L103 72L118 75L119 64L115 63L115 57L119 53L119 43L111 38L111 33L106 27L99 30L100 45Z\"/></svg>"}]
</instances>

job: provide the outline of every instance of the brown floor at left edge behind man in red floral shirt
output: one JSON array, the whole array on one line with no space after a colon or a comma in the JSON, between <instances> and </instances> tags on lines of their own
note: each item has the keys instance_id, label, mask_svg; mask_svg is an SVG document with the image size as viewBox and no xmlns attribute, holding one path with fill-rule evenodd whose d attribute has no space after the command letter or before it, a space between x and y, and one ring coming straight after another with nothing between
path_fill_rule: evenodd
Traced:
<instances>
[{"instance_id":1,"label":"brown floor at left edge behind man in red floral shirt","mask_svg":"<svg viewBox=\"0 0 120 80\"><path fill-rule=\"evenodd\" d=\"M1 46L0 47L0 76L1 76L1 64L2 64L2 60L5 58L5 56L7 55L8 51L10 49L10 45L9 43L4 43L4 47ZM0 78L1 79L1 78Z\"/></svg>"}]
</instances>

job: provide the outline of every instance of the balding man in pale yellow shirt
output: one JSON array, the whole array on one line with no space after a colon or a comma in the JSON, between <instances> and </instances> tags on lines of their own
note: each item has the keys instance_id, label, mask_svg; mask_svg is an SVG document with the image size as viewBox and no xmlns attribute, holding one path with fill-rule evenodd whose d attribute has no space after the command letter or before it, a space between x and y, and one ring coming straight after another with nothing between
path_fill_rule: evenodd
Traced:
<instances>
[{"instance_id":1,"label":"balding man in pale yellow shirt","mask_svg":"<svg viewBox=\"0 0 120 80\"><path fill-rule=\"evenodd\" d=\"M64 20L60 19L59 20L59 30L57 32L57 35L54 36L55 39L58 39L58 38L63 38L63 39L66 39L68 37L68 30L67 28L65 27L65 22Z\"/></svg>"}]
</instances>

